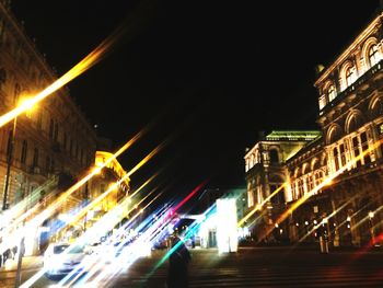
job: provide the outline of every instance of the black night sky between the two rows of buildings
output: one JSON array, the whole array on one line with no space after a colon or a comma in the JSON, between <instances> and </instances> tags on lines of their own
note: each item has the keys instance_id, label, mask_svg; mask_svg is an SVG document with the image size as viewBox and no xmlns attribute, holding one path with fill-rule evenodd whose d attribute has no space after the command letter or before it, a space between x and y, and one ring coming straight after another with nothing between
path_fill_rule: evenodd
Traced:
<instances>
[{"instance_id":1,"label":"black night sky between the two rows of buildings","mask_svg":"<svg viewBox=\"0 0 383 288\"><path fill-rule=\"evenodd\" d=\"M58 74L118 25L107 58L68 84L116 148L150 123L119 161L131 176L186 194L244 186L244 151L259 130L317 129L314 67L328 64L368 23L378 0L12 0L25 31Z\"/></svg>"}]
</instances>

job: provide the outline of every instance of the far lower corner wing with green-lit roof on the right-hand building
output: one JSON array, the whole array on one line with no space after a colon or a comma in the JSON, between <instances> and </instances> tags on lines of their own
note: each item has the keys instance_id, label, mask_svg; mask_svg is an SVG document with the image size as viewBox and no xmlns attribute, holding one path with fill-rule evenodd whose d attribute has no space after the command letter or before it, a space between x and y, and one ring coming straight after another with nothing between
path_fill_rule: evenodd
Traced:
<instances>
[{"instance_id":1,"label":"far lower corner wing with green-lit roof on the right-hand building","mask_svg":"<svg viewBox=\"0 0 383 288\"><path fill-rule=\"evenodd\" d=\"M289 180L285 163L318 137L320 131L271 131L266 137L262 135L245 154L247 206L249 210L260 207L254 215L256 222L251 224L256 239L274 242L287 238L286 228L279 228L276 234L265 235L267 227L275 226L278 215L292 200L290 187L282 187Z\"/></svg>"}]
</instances>

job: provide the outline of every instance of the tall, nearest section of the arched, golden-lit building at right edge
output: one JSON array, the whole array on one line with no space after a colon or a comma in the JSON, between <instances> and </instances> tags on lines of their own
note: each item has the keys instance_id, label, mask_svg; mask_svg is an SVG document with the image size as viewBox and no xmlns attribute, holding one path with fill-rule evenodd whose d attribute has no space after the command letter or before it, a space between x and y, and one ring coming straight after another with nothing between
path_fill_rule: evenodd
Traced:
<instances>
[{"instance_id":1,"label":"tall, nearest section of the arched, golden-lit building at right edge","mask_svg":"<svg viewBox=\"0 0 383 288\"><path fill-rule=\"evenodd\" d=\"M379 12L315 82L328 174L350 163L325 189L333 209L324 214L347 204L332 219L335 244L368 243L369 212L374 212L373 230L382 232L382 24Z\"/></svg>"}]
</instances>

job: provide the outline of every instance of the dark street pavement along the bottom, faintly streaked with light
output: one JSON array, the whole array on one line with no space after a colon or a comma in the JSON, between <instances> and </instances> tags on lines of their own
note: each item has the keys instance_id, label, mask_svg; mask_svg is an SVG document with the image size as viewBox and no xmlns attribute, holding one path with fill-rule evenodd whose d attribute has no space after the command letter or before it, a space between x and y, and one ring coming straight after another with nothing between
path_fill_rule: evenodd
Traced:
<instances>
[{"instance_id":1,"label":"dark street pavement along the bottom, faintly streaked with light","mask_svg":"<svg viewBox=\"0 0 383 288\"><path fill-rule=\"evenodd\" d=\"M150 257L97 287L164 288L167 261L158 269L166 251ZM219 254L216 249L193 249L189 288L219 287L383 287L383 252L338 250L321 254L317 247L241 247ZM40 257L24 257L23 281L42 267ZM12 265L11 265L12 266ZM12 278L13 277L13 278ZM0 270L0 287L14 287L15 264ZM49 287L44 276L33 286ZM81 286L88 287L88 286Z\"/></svg>"}]
</instances>

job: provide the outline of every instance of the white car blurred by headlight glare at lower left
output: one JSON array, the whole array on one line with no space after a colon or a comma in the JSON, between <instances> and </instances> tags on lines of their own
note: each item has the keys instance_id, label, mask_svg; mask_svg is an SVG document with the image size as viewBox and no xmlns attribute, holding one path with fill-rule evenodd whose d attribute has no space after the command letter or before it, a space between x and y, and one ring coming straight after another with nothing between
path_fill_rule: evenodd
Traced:
<instances>
[{"instance_id":1,"label":"white car blurred by headlight glare at lower left","mask_svg":"<svg viewBox=\"0 0 383 288\"><path fill-rule=\"evenodd\" d=\"M49 279L66 276L74 268L80 268L81 262L86 256L84 246L69 243L53 243L44 253L45 275Z\"/></svg>"}]
</instances>

